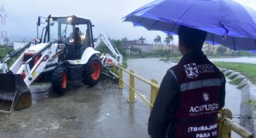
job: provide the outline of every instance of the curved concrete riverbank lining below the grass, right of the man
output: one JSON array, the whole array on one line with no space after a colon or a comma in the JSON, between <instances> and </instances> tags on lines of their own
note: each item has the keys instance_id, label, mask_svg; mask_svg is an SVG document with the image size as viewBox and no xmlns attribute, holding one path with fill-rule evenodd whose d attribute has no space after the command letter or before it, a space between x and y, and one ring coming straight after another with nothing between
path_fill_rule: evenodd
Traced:
<instances>
[{"instance_id":1,"label":"curved concrete riverbank lining below the grass, right of the man","mask_svg":"<svg viewBox=\"0 0 256 138\"><path fill-rule=\"evenodd\" d=\"M238 124L245 127L248 131L250 131L254 137L256 136L256 105L255 105L255 99L256 99L256 85L252 84L246 77L234 70L228 70L226 68L220 68L223 74L225 74L225 77L227 78L227 82L233 85L237 85L237 88L240 89L241 92L241 101L240 101L240 113L234 114L234 119L239 119ZM228 81L228 80L231 81ZM231 89L228 89L230 91ZM228 92L226 89L226 92ZM230 97L226 97L226 99ZM253 100L254 99L254 100ZM234 100L234 99L232 99ZM239 101L235 101L239 102ZM236 121L235 121L236 122Z\"/></svg>"}]
</instances>

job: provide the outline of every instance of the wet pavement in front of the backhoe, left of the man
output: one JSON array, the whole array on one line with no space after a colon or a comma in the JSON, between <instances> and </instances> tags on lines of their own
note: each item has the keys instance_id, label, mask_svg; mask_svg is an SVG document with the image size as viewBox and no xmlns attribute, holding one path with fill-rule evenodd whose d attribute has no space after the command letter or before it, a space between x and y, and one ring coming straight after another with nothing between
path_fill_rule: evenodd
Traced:
<instances>
[{"instance_id":1,"label":"wet pavement in front of the backhoe, left of the man","mask_svg":"<svg viewBox=\"0 0 256 138\"><path fill-rule=\"evenodd\" d=\"M30 90L31 107L0 113L0 137L149 137L148 106L129 104L128 91L111 82L71 82L61 96L49 83Z\"/></svg>"}]
</instances>

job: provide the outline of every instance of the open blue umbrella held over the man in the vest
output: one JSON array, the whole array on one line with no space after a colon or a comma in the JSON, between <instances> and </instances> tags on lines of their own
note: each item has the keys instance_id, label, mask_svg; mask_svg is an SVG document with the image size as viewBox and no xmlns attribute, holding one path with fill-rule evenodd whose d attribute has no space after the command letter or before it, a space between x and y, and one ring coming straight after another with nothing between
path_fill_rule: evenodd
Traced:
<instances>
[{"instance_id":1,"label":"open blue umbrella held over the man in the vest","mask_svg":"<svg viewBox=\"0 0 256 138\"><path fill-rule=\"evenodd\" d=\"M125 22L177 34L180 25L207 31L207 41L234 50L256 50L256 11L231 0L158 0L125 16Z\"/></svg>"}]
</instances>

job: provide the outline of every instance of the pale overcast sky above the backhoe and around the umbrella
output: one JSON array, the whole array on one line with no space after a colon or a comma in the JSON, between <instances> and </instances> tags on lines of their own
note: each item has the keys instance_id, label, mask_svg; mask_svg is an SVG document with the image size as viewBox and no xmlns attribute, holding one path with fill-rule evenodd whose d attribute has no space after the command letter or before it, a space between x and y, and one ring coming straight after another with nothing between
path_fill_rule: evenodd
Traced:
<instances>
[{"instance_id":1,"label":"pale overcast sky above the backhoe and around the umbrella","mask_svg":"<svg viewBox=\"0 0 256 138\"><path fill-rule=\"evenodd\" d=\"M6 24L1 25L8 32L8 38L22 40L36 38L36 22L38 16L80 15L88 17L95 27L93 35L97 37L100 32L107 33L111 38L135 40L141 36L148 43L153 43L157 35L161 36L162 43L166 34L160 31L148 31L143 27L133 27L130 22L122 22L122 17L130 14L137 8L153 0L0 0L4 4ZM236 0L256 10L256 0ZM1 11L1 10L0 10ZM19 24L19 25L18 25ZM1 29L0 28L0 29ZM174 43L178 43L175 37Z\"/></svg>"}]
</instances>

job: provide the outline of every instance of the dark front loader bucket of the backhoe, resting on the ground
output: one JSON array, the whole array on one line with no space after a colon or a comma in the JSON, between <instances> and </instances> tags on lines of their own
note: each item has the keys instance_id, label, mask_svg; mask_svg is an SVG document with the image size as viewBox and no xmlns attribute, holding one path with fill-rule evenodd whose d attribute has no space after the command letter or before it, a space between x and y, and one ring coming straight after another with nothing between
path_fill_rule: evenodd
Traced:
<instances>
[{"instance_id":1,"label":"dark front loader bucket of the backhoe, resting on the ground","mask_svg":"<svg viewBox=\"0 0 256 138\"><path fill-rule=\"evenodd\" d=\"M11 113L31 104L30 89L20 74L0 73L0 112Z\"/></svg>"}]
</instances>

